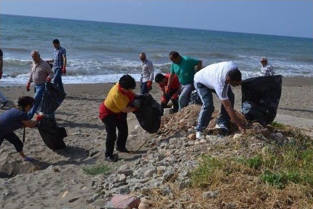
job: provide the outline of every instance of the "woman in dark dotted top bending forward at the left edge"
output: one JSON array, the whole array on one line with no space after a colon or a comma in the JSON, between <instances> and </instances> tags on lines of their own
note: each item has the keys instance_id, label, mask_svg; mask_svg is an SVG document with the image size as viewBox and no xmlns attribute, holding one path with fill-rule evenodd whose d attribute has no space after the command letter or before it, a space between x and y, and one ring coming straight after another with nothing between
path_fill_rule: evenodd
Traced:
<instances>
[{"instance_id":1,"label":"woman in dark dotted top bending forward at the left edge","mask_svg":"<svg viewBox=\"0 0 313 209\"><path fill-rule=\"evenodd\" d=\"M30 96L21 96L18 105L10 110L5 111L0 115L0 145L3 139L6 139L16 148L20 156L25 161L32 159L26 157L23 153L23 143L16 134L15 130L23 127L35 128L36 124L42 119L43 116L37 115L35 120L30 120L27 112L30 111L34 104L34 98Z\"/></svg>"}]
</instances>

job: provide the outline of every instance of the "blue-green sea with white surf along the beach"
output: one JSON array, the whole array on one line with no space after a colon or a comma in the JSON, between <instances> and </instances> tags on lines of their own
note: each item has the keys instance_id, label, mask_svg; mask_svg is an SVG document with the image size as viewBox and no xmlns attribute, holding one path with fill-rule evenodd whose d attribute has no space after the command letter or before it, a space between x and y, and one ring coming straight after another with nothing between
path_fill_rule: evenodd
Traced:
<instances>
[{"instance_id":1,"label":"blue-green sea with white surf along the beach","mask_svg":"<svg viewBox=\"0 0 313 209\"><path fill-rule=\"evenodd\" d=\"M139 53L145 52L156 72L169 72L170 51L201 59L204 66L232 60L244 78L259 74L266 56L276 74L313 76L313 39L137 24L0 15L3 77L0 86L25 84L30 52L52 59L52 40L67 50L63 82L115 82L123 74L140 79Z\"/></svg>"}]
</instances>

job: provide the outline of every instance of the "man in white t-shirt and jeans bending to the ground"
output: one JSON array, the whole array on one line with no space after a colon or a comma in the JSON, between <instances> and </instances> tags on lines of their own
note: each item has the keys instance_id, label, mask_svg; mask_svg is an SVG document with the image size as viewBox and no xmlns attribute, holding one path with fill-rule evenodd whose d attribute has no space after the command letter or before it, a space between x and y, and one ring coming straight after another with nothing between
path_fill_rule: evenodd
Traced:
<instances>
[{"instance_id":1,"label":"man in white t-shirt and jeans bending to the ground","mask_svg":"<svg viewBox=\"0 0 313 209\"><path fill-rule=\"evenodd\" d=\"M235 96L230 85L241 85L241 72L235 63L232 61L221 62L203 68L195 74L194 85L203 103L198 125L195 127L197 139L203 138L203 130L208 126L214 112L212 93L216 93L222 102L221 114L216 121L216 128L221 128L226 134L231 118L241 132L245 131L233 109Z\"/></svg>"}]
</instances>

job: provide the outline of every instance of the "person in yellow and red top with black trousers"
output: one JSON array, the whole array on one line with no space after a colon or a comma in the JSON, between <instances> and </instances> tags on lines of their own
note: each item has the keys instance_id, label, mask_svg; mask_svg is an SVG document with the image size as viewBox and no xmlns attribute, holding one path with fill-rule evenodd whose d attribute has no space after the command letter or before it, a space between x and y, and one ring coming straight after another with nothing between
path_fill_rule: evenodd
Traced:
<instances>
[{"instance_id":1,"label":"person in yellow and red top with black trousers","mask_svg":"<svg viewBox=\"0 0 313 209\"><path fill-rule=\"evenodd\" d=\"M105 124L107 131L105 156L109 162L117 161L117 158L113 156L116 128L118 130L116 150L125 153L130 152L126 149L128 136L127 113L137 110L137 108L130 107L135 98L133 92L135 87L134 78L130 75L123 75L99 107L99 117Z\"/></svg>"}]
</instances>

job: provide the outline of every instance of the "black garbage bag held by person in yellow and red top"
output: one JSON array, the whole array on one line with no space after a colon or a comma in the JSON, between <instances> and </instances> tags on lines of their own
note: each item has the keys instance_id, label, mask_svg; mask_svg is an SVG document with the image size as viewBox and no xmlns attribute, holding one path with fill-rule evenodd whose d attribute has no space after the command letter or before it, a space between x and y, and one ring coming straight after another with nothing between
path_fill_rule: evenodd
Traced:
<instances>
[{"instance_id":1,"label":"black garbage bag held by person in yellow and red top","mask_svg":"<svg viewBox=\"0 0 313 209\"><path fill-rule=\"evenodd\" d=\"M159 103L151 94L144 94L135 98L134 106L138 108L135 116L140 126L150 134L156 133L160 128L163 115Z\"/></svg>"}]
</instances>

